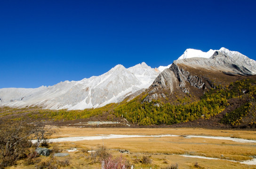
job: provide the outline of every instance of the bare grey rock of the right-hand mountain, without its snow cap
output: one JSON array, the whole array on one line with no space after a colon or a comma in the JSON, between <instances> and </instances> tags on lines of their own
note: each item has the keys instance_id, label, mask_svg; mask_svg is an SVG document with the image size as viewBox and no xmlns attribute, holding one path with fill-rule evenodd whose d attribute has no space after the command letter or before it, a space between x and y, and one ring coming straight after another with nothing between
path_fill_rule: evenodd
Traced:
<instances>
[{"instance_id":1,"label":"bare grey rock of the right-hand mountain, without its snow cap","mask_svg":"<svg viewBox=\"0 0 256 169\"><path fill-rule=\"evenodd\" d=\"M190 72L186 68L192 68L196 72ZM153 99L162 97L163 93L156 93L160 89L169 89L173 92L176 87L179 87L182 92L190 93L188 84L198 89L213 87L212 80L201 74L200 70L207 71L209 74L212 71L230 76L253 75L256 72L256 61L238 52L227 51L224 53L215 51L210 58L192 57L176 60L169 69L165 69L154 80L149 95L144 101L151 102Z\"/></svg>"}]
</instances>

